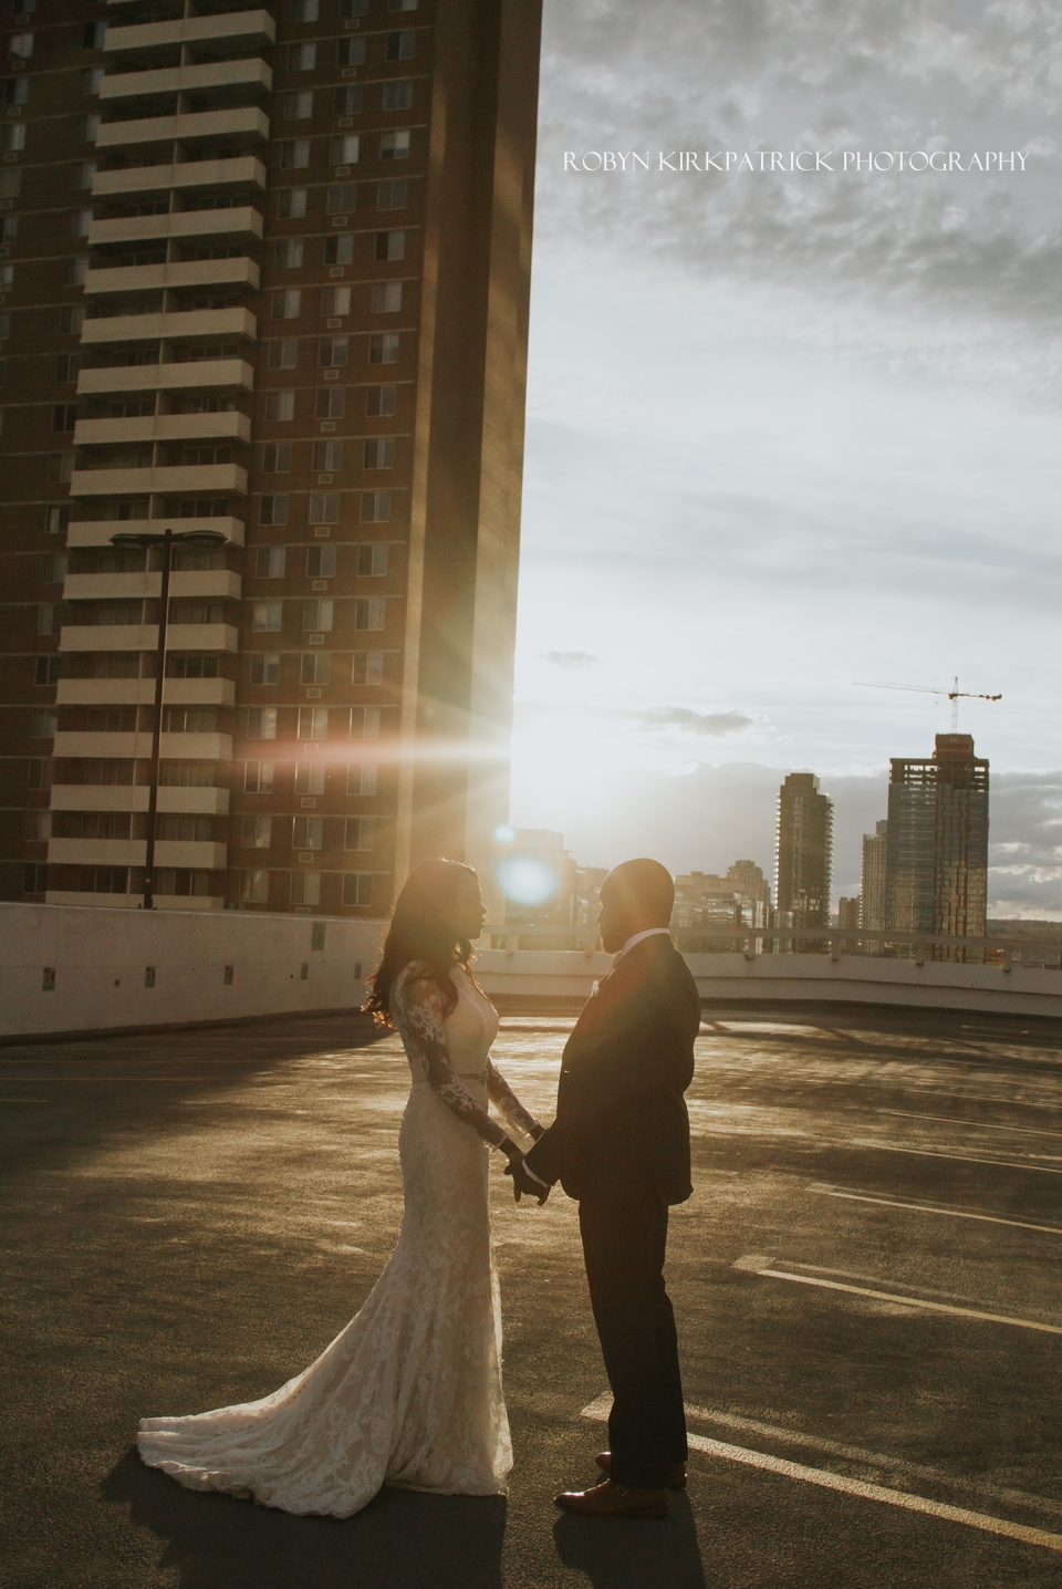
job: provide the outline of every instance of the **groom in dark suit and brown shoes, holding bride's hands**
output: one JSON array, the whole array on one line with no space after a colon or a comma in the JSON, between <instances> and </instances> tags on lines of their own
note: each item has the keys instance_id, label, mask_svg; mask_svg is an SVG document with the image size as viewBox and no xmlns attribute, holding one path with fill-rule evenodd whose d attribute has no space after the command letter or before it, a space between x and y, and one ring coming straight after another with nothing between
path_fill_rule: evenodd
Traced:
<instances>
[{"instance_id":1,"label":"groom in dark suit and brown shoes, holding bride's hands","mask_svg":"<svg viewBox=\"0 0 1062 1589\"><path fill-rule=\"evenodd\" d=\"M594 1322L613 1390L608 1475L556 1497L592 1517L665 1517L686 1484L675 1314L664 1287L667 1211L692 1192L689 1117L700 998L668 922L659 861L624 861L600 888L602 944L616 953L568 1038L557 1119L518 1166L516 1190L560 1181L579 1203ZM525 1179L525 1184L524 1184ZM538 1185L535 1185L538 1182ZM548 1195L548 1192L546 1192Z\"/></svg>"}]
</instances>

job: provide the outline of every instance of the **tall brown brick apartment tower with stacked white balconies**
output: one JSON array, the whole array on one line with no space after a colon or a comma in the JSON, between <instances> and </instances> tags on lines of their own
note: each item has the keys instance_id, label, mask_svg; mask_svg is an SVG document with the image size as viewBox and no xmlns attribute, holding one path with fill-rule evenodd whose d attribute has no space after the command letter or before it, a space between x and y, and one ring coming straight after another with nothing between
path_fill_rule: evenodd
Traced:
<instances>
[{"instance_id":1,"label":"tall brown brick apartment tower with stacked white balconies","mask_svg":"<svg viewBox=\"0 0 1062 1589\"><path fill-rule=\"evenodd\" d=\"M21 0L0 895L383 914L508 815L540 0Z\"/></svg>"}]
</instances>

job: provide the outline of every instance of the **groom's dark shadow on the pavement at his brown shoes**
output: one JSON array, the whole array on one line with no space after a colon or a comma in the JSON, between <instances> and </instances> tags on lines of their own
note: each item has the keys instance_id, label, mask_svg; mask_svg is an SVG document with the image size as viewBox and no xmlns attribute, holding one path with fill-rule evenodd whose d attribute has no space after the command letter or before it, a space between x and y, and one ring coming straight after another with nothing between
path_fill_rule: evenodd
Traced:
<instances>
[{"instance_id":1,"label":"groom's dark shadow on the pavement at his brown shoes","mask_svg":"<svg viewBox=\"0 0 1062 1589\"><path fill-rule=\"evenodd\" d=\"M686 1495L670 1497L667 1522L602 1522L562 1517L557 1554L594 1589L705 1589L697 1524Z\"/></svg>"}]
</instances>

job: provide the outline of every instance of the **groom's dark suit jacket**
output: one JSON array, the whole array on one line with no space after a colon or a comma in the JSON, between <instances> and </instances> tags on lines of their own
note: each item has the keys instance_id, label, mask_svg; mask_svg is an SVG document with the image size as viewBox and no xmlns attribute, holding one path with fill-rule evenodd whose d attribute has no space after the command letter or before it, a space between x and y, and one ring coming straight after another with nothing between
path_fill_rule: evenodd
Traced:
<instances>
[{"instance_id":1,"label":"groom's dark suit jacket","mask_svg":"<svg viewBox=\"0 0 1062 1589\"><path fill-rule=\"evenodd\" d=\"M565 1044L557 1117L527 1166L573 1198L684 1203L700 996L670 938L643 938L586 1003Z\"/></svg>"}]
</instances>

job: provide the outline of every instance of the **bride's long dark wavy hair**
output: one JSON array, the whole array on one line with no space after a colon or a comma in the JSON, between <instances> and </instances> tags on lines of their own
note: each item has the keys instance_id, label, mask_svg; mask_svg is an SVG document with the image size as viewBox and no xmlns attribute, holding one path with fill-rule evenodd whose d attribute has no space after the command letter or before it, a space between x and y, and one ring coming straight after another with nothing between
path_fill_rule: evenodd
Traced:
<instances>
[{"instance_id":1,"label":"bride's long dark wavy hair","mask_svg":"<svg viewBox=\"0 0 1062 1589\"><path fill-rule=\"evenodd\" d=\"M364 1011L371 1011L378 1026L392 1026L391 988L411 960L427 966L427 974L443 995L443 1015L457 1003L451 966L467 966L471 939L457 936L457 890L465 877L475 879L471 866L437 856L414 866L395 899L379 965L368 977L371 993Z\"/></svg>"}]
</instances>

